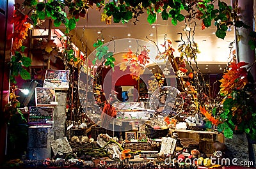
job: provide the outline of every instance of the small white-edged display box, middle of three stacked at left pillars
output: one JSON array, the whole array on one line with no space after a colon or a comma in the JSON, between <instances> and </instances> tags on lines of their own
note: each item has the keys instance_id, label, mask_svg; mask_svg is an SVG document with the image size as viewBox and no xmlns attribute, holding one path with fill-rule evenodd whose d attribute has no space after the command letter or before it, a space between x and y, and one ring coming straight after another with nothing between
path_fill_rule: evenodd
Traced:
<instances>
[{"instance_id":1,"label":"small white-edged display box, middle of three stacked at left pillars","mask_svg":"<svg viewBox=\"0 0 256 169\"><path fill-rule=\"evenodd\" d=\"M36 107L58 105L54 88L36 87Z\"/></svg>"}]
</instances>

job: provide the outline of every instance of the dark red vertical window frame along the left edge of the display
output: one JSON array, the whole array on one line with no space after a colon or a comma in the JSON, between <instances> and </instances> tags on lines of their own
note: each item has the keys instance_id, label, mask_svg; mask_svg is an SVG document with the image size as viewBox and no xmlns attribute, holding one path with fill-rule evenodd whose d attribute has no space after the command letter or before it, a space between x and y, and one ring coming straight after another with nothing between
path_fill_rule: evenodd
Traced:
<instances>
[{"instance_id":1,"label":"dark red vertical window frame along the left edge of the display","mask_svg":"<svg viewBox=\"0 0 256 169\"><path fill-rule=\"evenodd\" d=\"M13 24L10 24L10 19L13 17L14 0L1 0L0 3L0 119L3 119L3 108L8 103L9 91L9 73L10 66L7 62L10 61L10 51L12 41L7 37L13 31ZM6 124L0 123L0 163L4 161L5 154L5 139L6 139Z\"/></svg>"}]
</instances>

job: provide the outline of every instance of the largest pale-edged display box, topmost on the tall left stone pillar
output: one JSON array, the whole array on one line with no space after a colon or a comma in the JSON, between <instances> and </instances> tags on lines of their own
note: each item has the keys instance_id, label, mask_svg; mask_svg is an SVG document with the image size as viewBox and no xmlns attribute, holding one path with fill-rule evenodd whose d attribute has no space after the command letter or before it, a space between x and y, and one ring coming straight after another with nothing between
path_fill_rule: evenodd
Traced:
<instances>
[{"instance_id":1,"label":"largest pale-edged display box, topmost on the tall left stone pillar","mask_svg":"<svg viewBox=\"0 0 256 169\"><path fill-rule=\"evenodd\" d=\"M67 90L69 70L46 70L44 87Z\"/></svg>"}]
</instances>

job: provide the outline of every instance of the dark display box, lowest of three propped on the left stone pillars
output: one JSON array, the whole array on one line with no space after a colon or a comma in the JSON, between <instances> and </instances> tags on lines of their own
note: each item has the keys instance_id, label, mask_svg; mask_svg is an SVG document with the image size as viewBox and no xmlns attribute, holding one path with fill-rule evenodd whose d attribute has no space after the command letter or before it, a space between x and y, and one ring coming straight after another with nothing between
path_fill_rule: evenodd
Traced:
<instances>
[{"instance_id":1,"label":"dark display box, lowest of three propped on the left stone pillars","mask_svg":"<svg viewBox=\"0 0 256 169\"><path fill-rule=\"evenodd\" d=\"M52 121L52 112L51 107L30 107L28 123L47 124L47 121Z\"/></svg>"}]
</instances>

